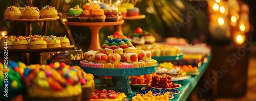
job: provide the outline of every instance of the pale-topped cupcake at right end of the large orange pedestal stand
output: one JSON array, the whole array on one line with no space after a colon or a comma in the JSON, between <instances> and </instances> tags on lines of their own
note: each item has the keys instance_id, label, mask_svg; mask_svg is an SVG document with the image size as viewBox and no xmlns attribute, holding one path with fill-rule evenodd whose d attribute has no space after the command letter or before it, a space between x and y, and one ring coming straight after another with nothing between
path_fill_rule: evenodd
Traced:
<instances>
[{"instance_id":1,"label":"pale-topped cupcake at right end of the large orange pedestal stand","mask_svg":"<svg viewBox=\"0 0 256 101\"><path fill-rule=\"evenodd\" d=\"M104 9L105 11L105 22L116 22L119 21L120 17L118 14L118 8L111 6Z\"/></svg>"}]
</instances>

